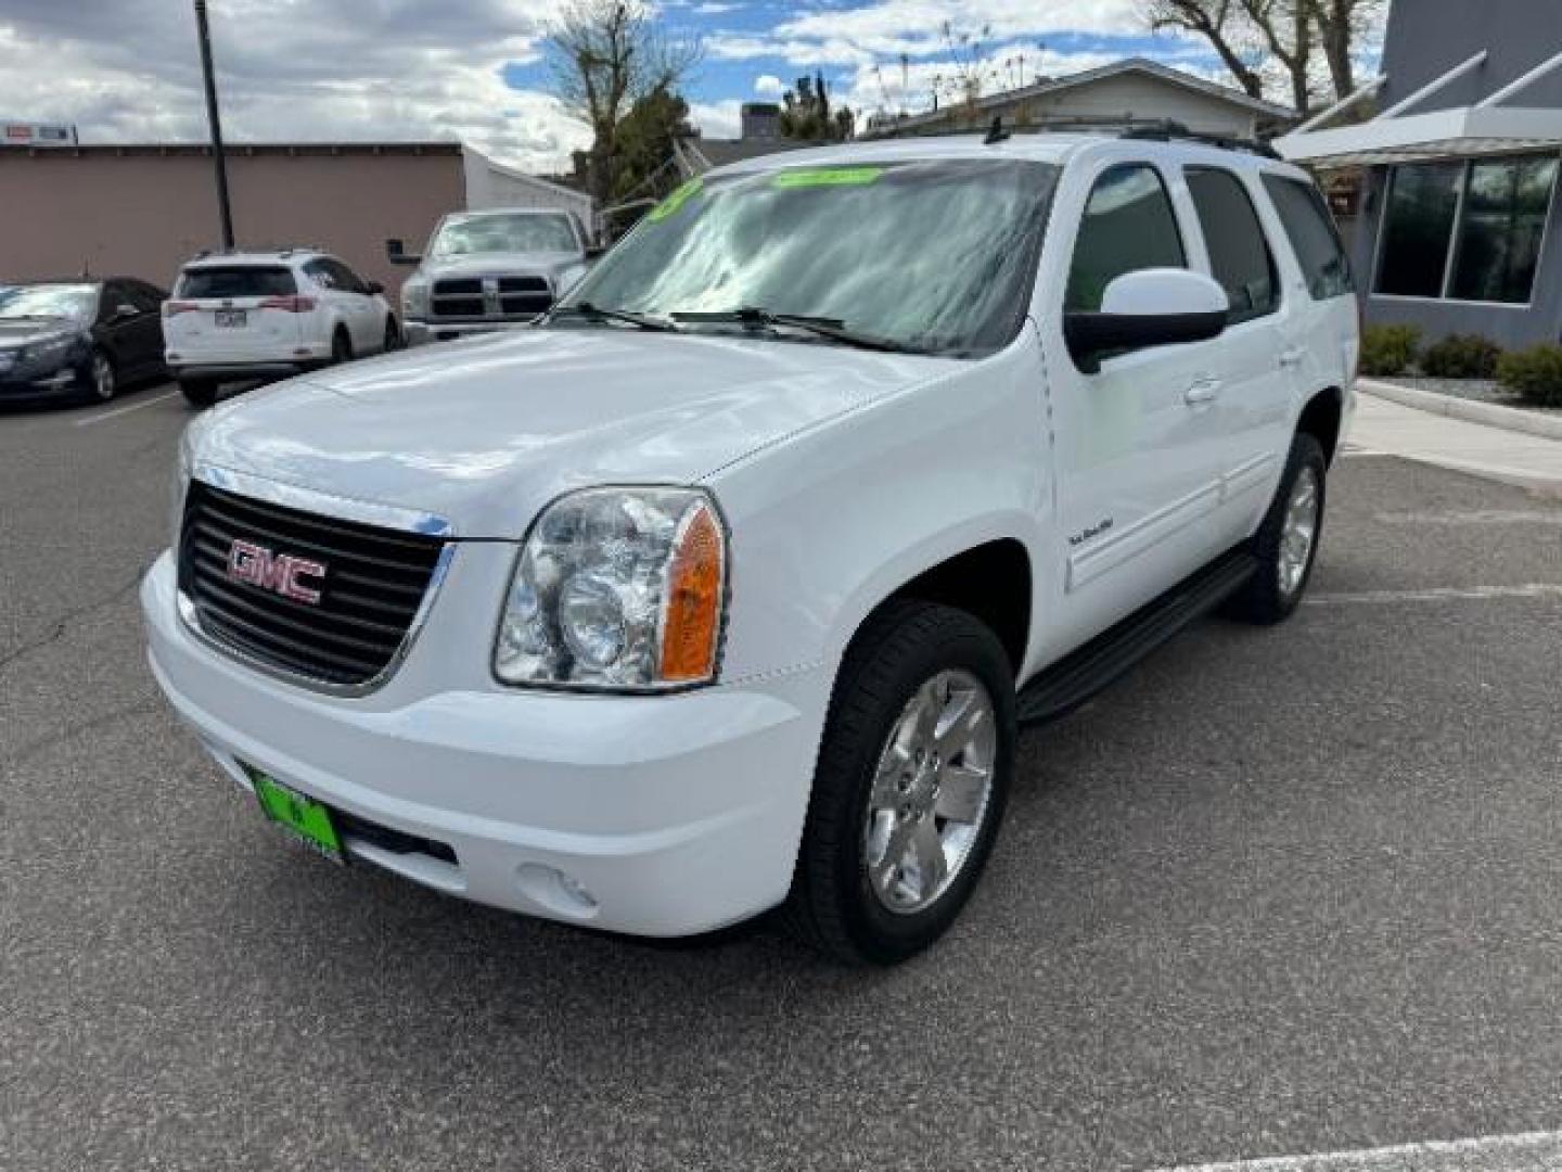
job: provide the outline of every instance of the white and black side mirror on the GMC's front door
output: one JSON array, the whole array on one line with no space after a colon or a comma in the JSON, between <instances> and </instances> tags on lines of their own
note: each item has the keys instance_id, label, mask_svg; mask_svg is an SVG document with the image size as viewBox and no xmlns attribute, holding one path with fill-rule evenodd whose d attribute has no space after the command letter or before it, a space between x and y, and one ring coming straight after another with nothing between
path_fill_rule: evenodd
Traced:
<instances>
[{"instance_id":1,"label":"white and black side mirror on the GMC's front door","mask_svg":"<svg viewBox=\"0 0 1562 1172\"><path fill-rule=\"evenodd\" d=\"M1140 269L1106 286L1100 313L1064 314L1064 338L1075 364L1093 375L1106 355L1218 338L1229 309L1226 291L1203 273Z\"/></svg>"}]
</instances>

